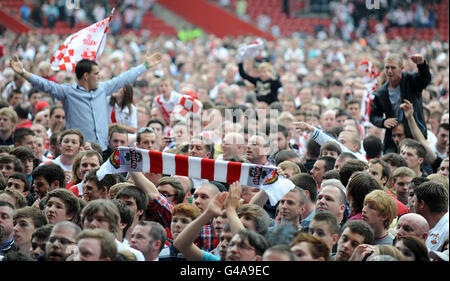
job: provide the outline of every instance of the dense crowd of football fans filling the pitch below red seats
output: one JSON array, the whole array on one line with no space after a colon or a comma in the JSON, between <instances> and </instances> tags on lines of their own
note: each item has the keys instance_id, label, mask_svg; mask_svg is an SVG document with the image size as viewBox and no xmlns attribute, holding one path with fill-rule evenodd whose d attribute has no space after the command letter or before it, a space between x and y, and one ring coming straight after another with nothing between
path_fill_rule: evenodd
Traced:
<instances>
[{"instance_id":1,"label":"dense crowd of football fans filling the pitch below red seats","mask_svg":"<svg viewBox=\"0 0 450 281\"><path fill-rule=\"evenodd\" d=\"M279 38L243 58L255 38L111 35L54 72L63 39L2 39L3 260L448 261L448 42ZM99 177L119 146L295 187L272 206L239 182Z\"/></svg>"}]
</instances>

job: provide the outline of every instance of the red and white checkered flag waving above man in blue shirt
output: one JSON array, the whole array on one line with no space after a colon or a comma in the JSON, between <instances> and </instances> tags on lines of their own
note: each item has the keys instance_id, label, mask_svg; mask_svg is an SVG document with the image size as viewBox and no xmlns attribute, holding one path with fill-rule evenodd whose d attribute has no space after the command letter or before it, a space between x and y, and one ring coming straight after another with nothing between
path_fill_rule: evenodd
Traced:
<instances>
[{"instance_id":1,"label":"red and white checkered flag waving above man in blue shirt","mask_svg":"<svg viewBox=\"0 0 450 281\"><path fill-rule=\"evenodd\" d=\"M109 18L94 23L67 37L50 60L53 70L75 71L75 65L82 59L96 60L103 53L114 9Z\"/></svg>"}]
</instances>

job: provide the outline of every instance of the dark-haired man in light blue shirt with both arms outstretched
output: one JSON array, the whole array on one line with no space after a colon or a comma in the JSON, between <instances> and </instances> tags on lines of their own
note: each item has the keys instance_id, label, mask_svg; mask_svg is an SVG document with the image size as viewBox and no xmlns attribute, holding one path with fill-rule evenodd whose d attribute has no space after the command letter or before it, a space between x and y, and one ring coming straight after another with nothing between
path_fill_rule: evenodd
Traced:
<instances>
[{"instance_id":1,"label":"dark-haired man in light blue shirt with both arms outstretched","mask_svg":"<svg viewBox=\"0 0 450 281\"><path fill-rule=\"evenodd\" d=\"M124 85L134 82L147 69L157 65L161 58L162 55L158 53L146 55L144 64L134 67L110 81L100 83L98 83L100 69L97 63L82 59L75 66L77 82L73 85L59 85L29 73L17 56L10 58L9 64L17 74L28 80L34 88L61 100L67 115L67 128L79 129L87 141L97 142L105 150L108 138L106 97Z\"/></svg>"}]
</instances>

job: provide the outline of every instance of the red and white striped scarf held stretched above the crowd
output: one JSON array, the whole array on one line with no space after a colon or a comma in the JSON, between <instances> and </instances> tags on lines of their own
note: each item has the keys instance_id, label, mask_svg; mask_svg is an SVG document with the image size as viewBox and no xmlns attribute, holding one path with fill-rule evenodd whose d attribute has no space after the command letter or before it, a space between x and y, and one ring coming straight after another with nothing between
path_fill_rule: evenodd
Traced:
<instances>
[{"instance_id":1,"label":"red and white striped scarf held stretched above the crowd","mask_svg":"<svg viewBox=\"0 0 450 281\"><path fill-rule=\"evenodd\" d=\"M194 179L233 183L262 188L274 206L295 185L278 175L276 167L221 161L120 146L97 171L101 180L107 174L145 172L179 175Z\"/></svg>"}]
</instances>

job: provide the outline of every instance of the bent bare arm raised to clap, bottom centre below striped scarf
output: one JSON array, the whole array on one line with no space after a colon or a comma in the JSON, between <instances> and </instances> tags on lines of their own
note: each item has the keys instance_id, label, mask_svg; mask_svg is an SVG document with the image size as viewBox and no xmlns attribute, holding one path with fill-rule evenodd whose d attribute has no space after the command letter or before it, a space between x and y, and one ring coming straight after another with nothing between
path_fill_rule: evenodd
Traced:
<instances>
[{"instance_id":1,"label":"bent bare arm raised to clap, bottom centre below striped scarf","mask_svg":"<svg viewBox=\"0 0 450 281\"><path fill-rule=\"evenodd\" d=\"M203 252L194 244L198 233L202 227L208 224L212 218L218 216L222 212L227 198L226 192L218 193L208 205L208 208L194 221L192 221L185 229L178 235L173 242L177 248L188 261L201 261Z\"/></svg>"}]
</instances>

